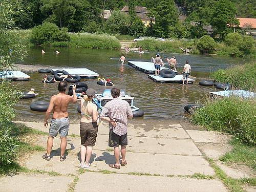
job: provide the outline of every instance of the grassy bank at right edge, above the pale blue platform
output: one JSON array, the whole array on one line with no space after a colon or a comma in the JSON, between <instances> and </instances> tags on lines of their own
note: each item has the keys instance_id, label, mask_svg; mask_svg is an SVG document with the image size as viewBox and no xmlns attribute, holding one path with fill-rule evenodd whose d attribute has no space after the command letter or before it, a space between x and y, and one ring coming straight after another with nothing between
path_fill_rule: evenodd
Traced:
<instances>
[{"instance_id":1,"label":"grassy bank at right edge, above the pale blue platform","mask_svg":"<svg viewBox=\"0 0 256 192\"><path fill-rule=\"evenodd\" d=\"M243 66L235 66L227 70L218 70L212 74L215 81L229 82L233 88L256 90L256 65L255 62Z\"/></svg>"}]
</instances>

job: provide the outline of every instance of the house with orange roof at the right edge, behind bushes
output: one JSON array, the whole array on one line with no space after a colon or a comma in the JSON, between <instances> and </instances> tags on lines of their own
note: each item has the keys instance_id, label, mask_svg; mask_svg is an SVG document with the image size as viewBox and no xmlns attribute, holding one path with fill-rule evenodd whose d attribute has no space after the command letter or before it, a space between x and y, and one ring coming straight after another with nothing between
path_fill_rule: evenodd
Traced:
<instances>
[{"instance_id":1,"label":"house with orange roof at the right edge, behind bushes","mask_svg":"<svg viewBox=\"0 0 256 192\"><path fill-rule=\"evenodd\" d=\"M251 35L256 39L256 18L242 18L237 17L239 20L239 28L244 29L247 35Z\"/></svg>"}]
</instances>

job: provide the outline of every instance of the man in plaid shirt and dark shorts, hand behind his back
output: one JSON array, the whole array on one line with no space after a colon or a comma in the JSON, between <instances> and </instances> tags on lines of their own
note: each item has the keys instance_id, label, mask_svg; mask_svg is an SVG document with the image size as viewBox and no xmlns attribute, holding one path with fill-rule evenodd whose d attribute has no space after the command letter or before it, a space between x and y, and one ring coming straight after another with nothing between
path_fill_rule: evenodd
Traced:
<instances>
[{"instance_id":1,"label":"man in plaid shirt and dark shorts, hand behind his back","mask_svg":"<svg viewBox=\"0 0 256 192\"><path fill-rule=\"evenodd\" d=\"M120 90L113 88L111 90L113 100L109 101L103 107L100 118L108 121L110 124L109 146L114 147L114 155L116 158L115 164L110 164L110 167L119 169L120 166L125 166L126 145L127 145L127 118L133 117L133 112L129 103L119 98ZM120 164L119 145L121 145L122 162Z\"/></svg>"}]
</instances>

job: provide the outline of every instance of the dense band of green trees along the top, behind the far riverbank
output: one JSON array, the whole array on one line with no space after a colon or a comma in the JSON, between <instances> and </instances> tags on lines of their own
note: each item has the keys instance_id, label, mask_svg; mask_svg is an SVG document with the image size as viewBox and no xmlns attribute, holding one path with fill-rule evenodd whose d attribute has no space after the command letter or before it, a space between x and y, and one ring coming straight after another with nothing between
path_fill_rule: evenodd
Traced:
<instances>
[{"instance_id":1,"label":"dense band of green trees along the top, behind the far riverbank","mask_svg":"<svg viewBox=\"0 0 256 192\"><path fill-rule=\"evenodd\" d=\"M22 0L22 4L25 11L15 17L16 26L22 29L49 22L69 32L166 38L200 38L207 34L207 25L214 30L212 36L224 38L233 31L230 26L239 24L236 14L256 15L252 0ZM120 11L125 5L129 15ZM250 8L246 9L247 5ZM145 27L135 14L135 6L147 7L147 16L156 22ZM111 10L112 16L104 20L103 10ZM181 14L186 16L184 21L179 19Z\"/></svg>"}]
</instances>

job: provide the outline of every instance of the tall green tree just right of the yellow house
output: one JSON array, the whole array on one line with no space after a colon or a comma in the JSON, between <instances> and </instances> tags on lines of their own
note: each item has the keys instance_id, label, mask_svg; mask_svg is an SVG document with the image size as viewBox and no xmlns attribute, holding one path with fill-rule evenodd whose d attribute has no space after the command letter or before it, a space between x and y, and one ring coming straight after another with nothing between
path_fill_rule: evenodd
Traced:
<instances>
[{"instance_id":1,"label":"tall green tree just right of the yellow house","mask_svg":"<svg viewBox=\"0 0 256 192\"><path fill-rule=\"evenodd\" d=\"M155 17L156 23L151 23L149 31L153 36L168 37L169 26L175 26L178 22L178 11L173 0L160 0L158 5L150 9L150 17Z\"/></svg>"}]
</instances>

